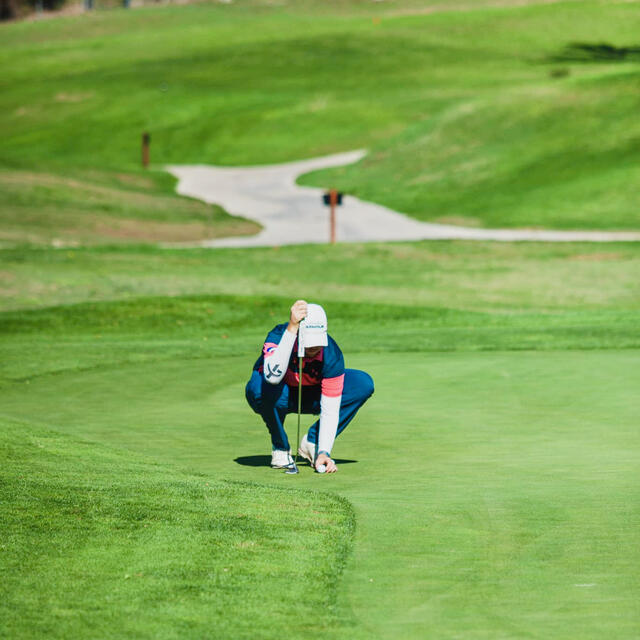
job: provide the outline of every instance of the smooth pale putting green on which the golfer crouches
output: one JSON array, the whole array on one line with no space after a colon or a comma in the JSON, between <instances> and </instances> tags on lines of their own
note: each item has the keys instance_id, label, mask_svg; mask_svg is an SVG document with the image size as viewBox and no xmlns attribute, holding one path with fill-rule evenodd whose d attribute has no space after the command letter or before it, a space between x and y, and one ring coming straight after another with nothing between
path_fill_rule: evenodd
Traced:
<instances>
[{"instance_id":1,"label":"smooth pale putting green on which the golfer crouches","mask_svg":"<svg viewBox=\"0 0 640 640\"><path fill-rule=\"evenodd\" d=\"M350 637L630 638L637 361L634 350L347 354L376 393L324 477L263 464L247 356L32 377L3 388L2 414L218 478L348 498Z\"/></svg>"}]
</instances>

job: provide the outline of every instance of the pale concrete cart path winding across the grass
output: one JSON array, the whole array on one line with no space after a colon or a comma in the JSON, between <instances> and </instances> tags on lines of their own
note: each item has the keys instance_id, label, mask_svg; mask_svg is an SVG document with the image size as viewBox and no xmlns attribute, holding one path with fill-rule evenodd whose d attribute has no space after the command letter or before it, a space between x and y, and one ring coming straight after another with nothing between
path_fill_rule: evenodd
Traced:
<instances>
[{"instance_id":1,"label":"pale concrete cart path winding across the grass","mask_svg":"<svg viewBox=\"0 0 640 640\"><path fill-rule=\"evenodd\" d=\"M255 167L174 165L167 170L178 178L177 192L218 204L229 213L259 222L254 236L205 240L204 247L263 247L326 243L329 210L322 204L323 189L301 187L298 176L328 167L357 162L364 151L351 151L299 162ZM345 196L337 208L339 242L392 240L501 240L544 242L640 241L640 231L542 231L475 229L414 220L386 207Z\"/></svg>"}]
</instances>

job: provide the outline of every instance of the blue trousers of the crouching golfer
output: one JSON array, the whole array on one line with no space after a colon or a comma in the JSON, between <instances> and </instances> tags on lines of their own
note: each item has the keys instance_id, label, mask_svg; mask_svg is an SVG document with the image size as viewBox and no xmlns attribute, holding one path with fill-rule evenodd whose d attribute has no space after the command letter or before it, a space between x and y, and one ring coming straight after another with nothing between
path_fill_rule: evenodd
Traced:
<instances>
[{"instance_id":1,"label":"blue trousers of the crouching golfer","mask_svg":"<svg viewBox=\"0 0 640 640\"><path fill-rule=\"evenodd\" d=\"M347 428L372 393L373 380L368 373L357 369L345 370L337 435ZM247 383L245 395L249 406L262 416L267 425L273 448L289 450L291 447L284 430L284 420L288 413L298 413L298 388L290 387L284 381L269 384L259 371L254 371ZM302 387L302 413L320 414L320 386ZM320 420L311 425L307 432L309 442L318 442L319 427Z\"/></svg>"}]
</instances>

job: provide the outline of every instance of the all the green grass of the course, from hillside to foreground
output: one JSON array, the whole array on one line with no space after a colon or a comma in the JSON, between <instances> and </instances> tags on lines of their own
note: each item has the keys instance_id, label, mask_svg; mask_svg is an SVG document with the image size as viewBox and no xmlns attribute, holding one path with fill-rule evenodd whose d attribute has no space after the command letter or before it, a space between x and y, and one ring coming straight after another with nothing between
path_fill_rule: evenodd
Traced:
<instances>
[{"instance_id":1,"label":"all the green grass of the course, from hillside to foreground","mask_svg":"<svg viewBox=\"0 0 640 640\"><path fill-rule=\"evenodd\" d=\"M637 12L491 4L0 26L0 636L640 635L638 245L138 244L255 231L165 164L363 147L303 181L637 228L638 60L566 48L636 45ZM299 297L376 383L334 476L269 469L244 401Z\"/></svg>"}]
</instances>

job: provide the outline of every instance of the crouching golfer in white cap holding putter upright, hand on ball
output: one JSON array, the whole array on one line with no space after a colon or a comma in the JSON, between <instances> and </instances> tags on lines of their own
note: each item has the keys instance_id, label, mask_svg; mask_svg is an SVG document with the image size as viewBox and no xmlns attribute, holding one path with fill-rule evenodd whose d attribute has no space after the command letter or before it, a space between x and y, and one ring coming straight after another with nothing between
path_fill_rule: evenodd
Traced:
<instances>
[{"instance_id":1,"label":"crouching golfer in white cap holding putter upright, hand on ball","mask_svg":"<svg viewBox=\"0 0 640 640\"><path fill-rule=\"evenodd\" d=\"M298 411L299 331L304 346L302 413L320 414L320 420L302 438L298 453L316 470L326 465L327 473L333 473L337 471L331 459L334 440L373 393L373 380L364 371L344 368L342 351L327 335L327 316L320 305L298 300L291 307L289 323L269 332L247 383L247 402L271 434L271 466L291 466L284 419Z\"/></svg>"}]
</instances>

